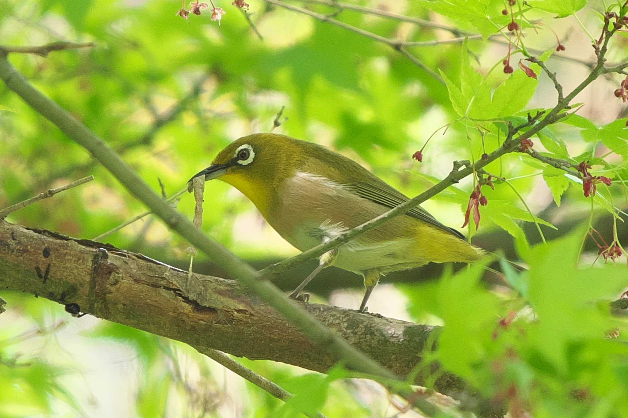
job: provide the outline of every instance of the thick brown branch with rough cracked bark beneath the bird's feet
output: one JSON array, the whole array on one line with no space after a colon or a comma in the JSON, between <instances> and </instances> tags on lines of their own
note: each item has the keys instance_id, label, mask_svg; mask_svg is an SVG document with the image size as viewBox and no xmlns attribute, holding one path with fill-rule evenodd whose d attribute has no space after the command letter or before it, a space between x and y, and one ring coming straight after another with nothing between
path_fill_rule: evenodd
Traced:
<instances>
[{"instance_id":1,"label":"thick brown branch with rough cracked bark beneath the bird's feet","mask_svg":"<svg viewBox=\"0 0 628 418\"><path fill-rule=\"evenodd\" d=\"M195 347L318 372L334 363L332 355L235 281L201 274L188 278L186 271L142 254L6 221L0 221L0 288L75 303L75 310ZM438 327L335 306L309 303L306 309L398 375L420 361L428 337L438 332ZM419 374L416 383L425 377ZM464 386L445 373L435 389L455 395Z\"/></svg>"}]
</instances>

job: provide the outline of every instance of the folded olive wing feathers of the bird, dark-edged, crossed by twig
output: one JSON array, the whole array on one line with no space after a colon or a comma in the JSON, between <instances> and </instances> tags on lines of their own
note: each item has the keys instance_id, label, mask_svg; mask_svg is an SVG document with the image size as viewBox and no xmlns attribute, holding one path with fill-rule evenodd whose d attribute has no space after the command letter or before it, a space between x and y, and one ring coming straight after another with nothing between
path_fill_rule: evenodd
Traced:
<instances>
[{"instance_id":1,"label":"folded olive wing feathers of the bird, dark-edged, crossed by twig","mask_svg":"<svg viewBox=\"0 0 628 418\"><path fill-rule=\"evenodd\" d=\"M347 184L346 186L350 189L350 191L357 194L357 196L360 196L363 199L369 199L369 201L376 202L382 206L390 207L391 209L409 200L407 196L390 186L381 187L379 184L366 184L361 182ZM454 234L462 239L465 239L465 236L463 236L463 234L459 231L436 221L436 218L431 216L430 212L423 209L423 207L413 207L406 212L406 215L414 217L420 221L427 222L430 225L443 229L443 231L447 231L450 234Z\"/></svg>"}]
</instances>

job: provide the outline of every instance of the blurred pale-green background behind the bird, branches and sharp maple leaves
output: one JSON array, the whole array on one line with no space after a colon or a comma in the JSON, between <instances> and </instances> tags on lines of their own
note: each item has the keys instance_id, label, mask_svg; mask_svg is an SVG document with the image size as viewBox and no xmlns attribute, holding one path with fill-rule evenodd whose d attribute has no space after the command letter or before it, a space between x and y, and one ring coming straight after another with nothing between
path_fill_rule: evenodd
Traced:
<instances>
[{"instance_id":1,"label":"blurred pale-green background behind the bird, branches and sharp maple leaves","mask_svg":"<svg viewBox=\"0 0 628 418\"><path fill-rule=\"evenodd\" d=\"M177 0L0 0L0 43L94 42L92 48L53 52L47 57L13 54L10 60L28 80L116 149L156 191L161 191L163 183L167 196L183 189L191 175L207 167L232 140L271 130L281 108L281 125L273 132L327 145L408 196L445 177L453 160L477 159L483 149L490 152L497 146L495 138L487 137L484 143L477 130L468 132L464 123L455 123L458 116L447 88L393 48L261 0L248 3L245 13L230 0L215 1L226 12L219 26L208 9L188 19L176 16L181 8ZM323 14L335 11L317 2L286 3ZM477 33L471 24L445 19L420 2L352 3ZM499 13L503 2L492 2L490 7ZM601 7L592 1L578 13L593 36L599 33L595 10ZM457 37L455 30L351 10L335 18L391 39ZM590 39L573 16L553 19L538 13L538 19L538 29L524 31L526 46L552 50L558 45L557 36L566 49L555 52L548 65L558 73L565 90L571 90L595 60ZM627 45L622 36L615 42L618 47L609 53L609 62L619 61ZM473 65L481 73L499 63L508 50L504 38L475 38L468 43L477 58ZM409 50L428 68L459 80L460 48L460 43L450 43ZM494 87L505 79L500 67L487 82ZM553 107L556 91L545 75L539 79L528 108ZM617 76L600 77L575 99L586 103L578 113L599 125L625 117L625 107L613 95L619 82ZM411 158L432 133L450 122L454 123L447 130L431 138L423 150L423 162ZM590 146L573 128L556 127L553 132L565 141L571 155ZM84 149L4 86L0 87L0 137L0 207L87 174L95 177L93 182L14 212L9 222L92 239L146 210ZM543 147L539 144L538 149ZM598 155L605 152L600 147ZM612 159L611 155L608 160ZM492 167L511 179L534 214L556 227L541 225L546 238L563 236L588 221L590 202L583 199L581 188L568 187L557 206L538 165L511 155ZM470 178L465 179L423 207L448 226L460 227L471 189ZM534 223L521 211L516 192L497 187L485 194L491 202L517 207L519 211L508 214L517 231L531 244L540 241ZM191 218L193 205L192 195L183 194L176 207ZM625 207L625 203L620 205ZM501 249L516 261L512 236L519 232L507 232L489 213L482 214L473 242ZM594 219L600 234L612 239L612 216L596 209ZM298 253L266 224L251 202L222 182L206 186L203 230L256 268ZM621 223L618 233L620 238L628 233ZM188 244L150 216L104 241L180 268L189 263ZM584 259L593 261L596 256L597 247L587 240ZM277 285L293 289L315 264L291 271ZM440 323L425 304L431 279L441 269L430 265L390 274L374 291L369 311ZM195 271L227 277L202 254L195 259ZM329 268L308 291L312 300L355 308L362 297L362 278ZM8 301L8 311L0 315L0 417L264 417L284 413L278 409L278 400L187 345L92 316L71 318L63 306L34 296L6 291L0 296ZM288 390L307 387L305 370L241 361ZM18 390L14 382L26 384ZM334 396L325 405L327 412L333 411L329 416L416 416L399 412L386 390L373 382L342 380L332 387Z\"/></svg>"}]
</instances>

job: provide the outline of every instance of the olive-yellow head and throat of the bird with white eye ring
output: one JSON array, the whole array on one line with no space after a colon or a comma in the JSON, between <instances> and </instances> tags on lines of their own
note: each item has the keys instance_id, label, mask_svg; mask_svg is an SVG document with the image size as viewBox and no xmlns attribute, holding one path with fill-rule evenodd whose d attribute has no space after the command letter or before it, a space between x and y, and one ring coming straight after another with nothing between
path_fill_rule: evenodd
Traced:
<instances>
[{"instance_id":1,"label":"olive-yellow head and throat of the bird with white eye ring","mask_svg":"<svg viewBox=\"0 0 628 418\"><path fill-rule=\"evenodd\" d=\"M303 154L296 140L276 133L254 133L227 145L212 165L193 175L219 179L242 193L264 213L276 186L294 175ZM190 179L190 180L192 180Z\"/></svg>"}]
</instances>

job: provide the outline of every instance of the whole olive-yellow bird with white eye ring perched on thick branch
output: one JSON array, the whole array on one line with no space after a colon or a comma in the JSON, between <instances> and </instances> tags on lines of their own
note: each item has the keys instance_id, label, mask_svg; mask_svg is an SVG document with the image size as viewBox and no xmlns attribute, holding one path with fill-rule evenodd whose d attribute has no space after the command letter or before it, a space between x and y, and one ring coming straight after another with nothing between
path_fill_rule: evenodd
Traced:
<instances>
[{"instance_id":1,"label":"whole olive-yellow bird with white eye ring perched on thick branch","mask_svg":"<svg viewBox=\"0 0 628 418\"><path fill-rule=\"evenodd\" d=\"M408 201L344 155L276 133L239 138L194 177L199 175L236 187L279 235L301 251ZM318 267L290 296L297 298L321 269L333 264L362 274L366 291L360 311L365 311L382 274L430 261L470 263L483 254L461 233L418 206L323 254Z\"/></svg>"}]
</instances>

